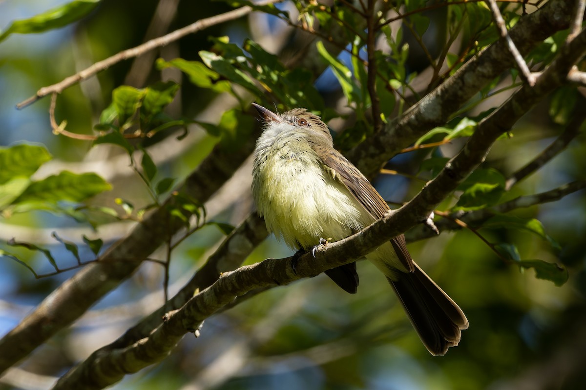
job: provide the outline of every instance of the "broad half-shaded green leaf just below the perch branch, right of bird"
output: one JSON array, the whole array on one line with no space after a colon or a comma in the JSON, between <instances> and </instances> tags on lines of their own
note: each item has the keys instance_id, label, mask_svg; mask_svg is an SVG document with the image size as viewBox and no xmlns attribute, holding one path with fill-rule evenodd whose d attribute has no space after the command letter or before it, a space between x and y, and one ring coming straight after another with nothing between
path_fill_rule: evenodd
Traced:
<instances>
[{"instance_id":1,"label":"broad half-shaded green leaf just below the perch branch, right of bird","mask_svg":"<svg viewBox=\"0 0 586 390\"><path fill-rule=\"evenodd\" d=\"M477 169L458 190L464 191L454 210L478 210L495 205L505 191L505 177L497 170Z\"/></svg>"}]
</instances>

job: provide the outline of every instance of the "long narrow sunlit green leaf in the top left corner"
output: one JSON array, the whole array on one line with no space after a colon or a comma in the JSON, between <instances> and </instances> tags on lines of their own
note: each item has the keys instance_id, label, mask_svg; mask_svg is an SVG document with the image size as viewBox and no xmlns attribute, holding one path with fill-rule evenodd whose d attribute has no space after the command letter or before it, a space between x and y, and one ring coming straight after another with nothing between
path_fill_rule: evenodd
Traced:
<instances>
[{"instance_id":1,"label":"long narrow sunlit green leaf in the top left corner","mask_svg":"<svg viewBox=\"0 0 586 390\"><path fill-rule=\"evenodd\" d=\"M100 0L76 0L29 19L15 20L0 34L0 42L10 34L42 33L67 26L86 16L99 2Z\"/></svg>"}]
</instances>

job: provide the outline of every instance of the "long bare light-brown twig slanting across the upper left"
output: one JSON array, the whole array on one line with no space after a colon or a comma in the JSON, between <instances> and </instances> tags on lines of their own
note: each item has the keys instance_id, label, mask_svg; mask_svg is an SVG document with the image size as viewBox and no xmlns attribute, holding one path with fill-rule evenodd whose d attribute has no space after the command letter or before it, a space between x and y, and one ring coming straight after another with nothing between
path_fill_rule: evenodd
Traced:
<instances>
[{"instance_id":1,"label":"long bare light-brown twig slanting across the upper left","mask_svg":"<svg viewBox=\"0 0 586 390\"><path fill-rule=\"evenodd\" d=\"M255 5L268 5L281 2L283 0L263 0L258 2ZM139 46L132 47L132 49L122 50L120 53L114 54L114 56L108 57L105 60L98 61L97 63L91 65L90 67L65 78L64 80L58 82L57 84L49 85L48 87L43 87L36 92L34 96L30 96L30 98L22 101L16 105L16 108L22 109L26 106L38 101L40 98L43 98L50 94L60 94L63 89L71 87L71 85L77 84L82 80L86 80L86 78L93 76L107 68L111 67L114 64L119 63L123 60L128 60L129 58L138 57L147 51L156 49L157 47L165 46L171 42L175 42L182 37L196 33L200 30L207 29L207 27L218 25L220 23L227 22L229 20L241 18L244 15L252 12L253 9L250 6L243 6L233 11L229 11L226 13L222 13L220 15L210 16L210 18L200 19L197 22L190 24L189 26L185 26L181 29L175 30L169 34L163 35L162 37L158 37L155 39L151 39L148 42L145 42Z\"/></svg>"}]
</instances>

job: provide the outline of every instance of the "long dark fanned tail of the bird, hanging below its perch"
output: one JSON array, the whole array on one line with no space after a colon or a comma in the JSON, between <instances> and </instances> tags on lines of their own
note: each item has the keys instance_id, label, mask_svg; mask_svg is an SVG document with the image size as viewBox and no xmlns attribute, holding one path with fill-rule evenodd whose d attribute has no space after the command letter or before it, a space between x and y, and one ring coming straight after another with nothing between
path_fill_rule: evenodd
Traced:
<instances>
[{"instance_id":1,"label":"long dark fanned tail of the bird, hanging below its perch","mask_svg":"<svg viewBox=\"0 0 586 390\"><path fill-rule=\"evenodd\" d=\"M414 272L401 273L397 281L389 279L389 283L432 355L443 356L449 347L458 345L461 330L468 328L464 312L417 264Z\"/></svg>"}]
</instances>

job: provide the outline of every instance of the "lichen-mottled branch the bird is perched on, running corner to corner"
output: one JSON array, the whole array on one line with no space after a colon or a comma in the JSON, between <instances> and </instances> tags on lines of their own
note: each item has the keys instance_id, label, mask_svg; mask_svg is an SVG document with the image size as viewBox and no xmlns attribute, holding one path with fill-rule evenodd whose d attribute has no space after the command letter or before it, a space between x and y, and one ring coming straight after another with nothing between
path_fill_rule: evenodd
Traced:
<instances>
[{"instance_id":1,"label":"lichen-mottled branch the bird is perched on, running corner to corner","mask_svg":"<svg viewBox=\"0 0 586 390\"><path fill-rule=\"evenodd\" d=\"M362 232L321 247L316 251L316 259L311 254L305 254L298 260L294 260L294 257L268 259L236 271L225 272L213 285L194 296L185 306L167 313L166 321L148 337L138 340L131 346L110 351L85 370L67 374L57 382L55 389L74 386L99 389L114 384L125 374L137 372L168 356L185 333L197 329L203 320L233 302L237 296L247 294L253 289L314 277L325 270L350 263L391 237L406 232L425 219L482 163L492 144L502 133L509 130L524 113L565 81L565 75L573 63L584 53L586 31L578 34L561 50L560 56L541 74L534 87L524 85L507 102L483 119L464 148L446 164L444 170L400 209L388 212Z\"/></svg>"}]
</instances>

